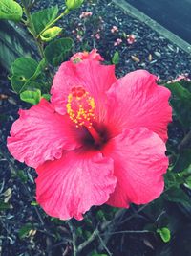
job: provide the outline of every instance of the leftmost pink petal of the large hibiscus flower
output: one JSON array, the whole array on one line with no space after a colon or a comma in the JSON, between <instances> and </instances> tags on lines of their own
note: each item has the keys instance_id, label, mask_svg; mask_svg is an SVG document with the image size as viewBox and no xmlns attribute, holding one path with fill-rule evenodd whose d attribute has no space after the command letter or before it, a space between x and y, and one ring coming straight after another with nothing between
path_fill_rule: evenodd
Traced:
<instances>
[{"instance_id":1,"label":"leftmost pink petal of the large hibiscus flower","mask_svg":"<svg viewBox=\"0 0 191 256\"><path fill-rule=\"evenodd\" d=\"M8 138L8 149L19 161L36 168L46 160L60 158L63 150L80 146L78 129L68 116L55 113L46 100L29 110L19 110L19 114Z\"/></svg>"}]
</instances>

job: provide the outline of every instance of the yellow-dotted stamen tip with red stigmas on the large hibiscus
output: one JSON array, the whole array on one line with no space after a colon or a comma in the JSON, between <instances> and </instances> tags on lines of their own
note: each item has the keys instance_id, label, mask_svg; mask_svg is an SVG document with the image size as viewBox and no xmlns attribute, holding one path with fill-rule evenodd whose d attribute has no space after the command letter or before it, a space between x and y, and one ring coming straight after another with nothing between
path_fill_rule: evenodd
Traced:
<instances>
[{"instance_id":1,"label":"yellow-dotted stamen tip with red stigmas on the large hibiscus","mask_svg":"<svg viewBox=\"0 0 191 256\"><path fill-rule=\"evenodd\" d=\"M83 87L71 89L66 108L76 128L92 128L93 121L96 119L96 104L94 98Z\"/></svg>"}]
</instances>

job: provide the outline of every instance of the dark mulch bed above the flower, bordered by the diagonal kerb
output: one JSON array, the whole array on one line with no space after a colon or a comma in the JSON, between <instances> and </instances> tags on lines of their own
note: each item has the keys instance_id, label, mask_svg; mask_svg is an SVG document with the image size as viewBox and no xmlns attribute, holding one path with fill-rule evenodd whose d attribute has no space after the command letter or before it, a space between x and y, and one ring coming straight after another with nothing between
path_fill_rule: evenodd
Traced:
<instances>
[{"instance_id":1,"label":"dark mulch bed above the flower, bordered by the diagonal kerb","mask_svg":"<svg viewBox=\"0 0 191 256\"><path fill-rule=\"evenodd\" d=\"M39 8L48 6L46 1L38 3L41 2ZM53 1L49 3L51 5ZM61 6L63 1L59 0L56 3ZM79 15L82 11L93 12L93 15L86 20L80 20ZM99 20L99 17L103 22ZM163 80L170 80L178 74L190 73L191 57L187 53L147 25L118 9L110 0L87 1L82 9L70 14L68 19L60 21L60 25L63 26L66 35L73 36L74 40L76 36L71 33L72 30L76 31L78 28L83 34L81 43L76 44L76 50L96 47L106 60L111 60L114 52L118 51L120 62L117 65L117 75L124 75L135 69L143 68ZM117 33L111 33L113 26L117 26ZM100 39L92 37L97 34L97 30L99 30ZM135 35L136 42L132 45L128 44L124 34ZM114 47L117 38L122 39L122 43Z\"/></svg>"}]
</instances>

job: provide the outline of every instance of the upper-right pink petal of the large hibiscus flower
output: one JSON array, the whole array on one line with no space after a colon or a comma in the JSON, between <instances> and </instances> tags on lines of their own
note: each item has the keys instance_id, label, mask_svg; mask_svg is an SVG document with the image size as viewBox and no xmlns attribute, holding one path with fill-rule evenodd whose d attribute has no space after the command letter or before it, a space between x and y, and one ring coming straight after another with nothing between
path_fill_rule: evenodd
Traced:
<instances>
[{"instance_id":1,"label":"upper-right pink petal of the large hibiscus flower","mask_svg":"<svg viewBox=\"0 0 191 256\"><path fill-rule=\"evenodd\" d=\"M167 125L172 121L170 91L157 85L156 79L149 72L138 70L118 80L108 92L108 123L120 131L145 127L166 141Z\"/></svg>"}]
</instances>

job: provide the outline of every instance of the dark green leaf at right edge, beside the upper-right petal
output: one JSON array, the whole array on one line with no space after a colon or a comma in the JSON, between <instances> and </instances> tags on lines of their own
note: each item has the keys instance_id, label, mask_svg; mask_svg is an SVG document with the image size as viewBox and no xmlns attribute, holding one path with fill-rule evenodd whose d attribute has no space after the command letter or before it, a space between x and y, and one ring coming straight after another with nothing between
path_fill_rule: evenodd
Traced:
<instances>
[{"instance_id":1,"label":"dark green leaf at right edge, beside the upper-right petal","mask_svg":"<svg viewBox=\"0 0 191 256\"><path fill-rule=\"evenodd\" d=\"M191 112L191 93L180 82L167 83L165 87L172 93L170 103L183 128L190 128L191 115L188 113Z\"/></svg>"}]
</instances>

